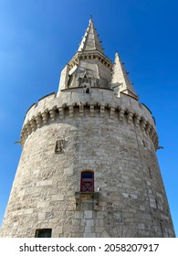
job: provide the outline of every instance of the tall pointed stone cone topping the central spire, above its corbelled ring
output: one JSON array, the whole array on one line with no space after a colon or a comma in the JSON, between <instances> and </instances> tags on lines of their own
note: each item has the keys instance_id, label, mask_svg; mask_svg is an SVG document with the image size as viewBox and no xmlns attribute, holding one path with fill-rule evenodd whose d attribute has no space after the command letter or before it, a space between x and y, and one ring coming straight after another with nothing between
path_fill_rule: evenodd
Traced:
<instances>
[{"instance_id":1,"label":"tall pointed stone cone topping the central spire, above its corbelled ring","mask_svg":"<svg viewBox=\"0 0 178 256\"><path fill-rule=\"evenodd\" d=\"M99 50L103 53L103 48L101 46L101 42L99 41L99 35L94 27L92 18L89 19L89 27L87 28L78 49L78 51L87 50Z\"/></svg>"}]
</instances>

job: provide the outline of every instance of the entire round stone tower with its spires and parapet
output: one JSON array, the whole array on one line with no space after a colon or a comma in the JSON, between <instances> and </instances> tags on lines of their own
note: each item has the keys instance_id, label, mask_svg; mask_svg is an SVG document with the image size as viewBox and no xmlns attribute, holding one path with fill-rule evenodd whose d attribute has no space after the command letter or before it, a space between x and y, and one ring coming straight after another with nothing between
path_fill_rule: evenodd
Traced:
<instances>
[{"instance_id":1,"label":"entire round stone tower with its spires and parapet","mask_svg":"<svg viewBox=\"0 0 178 256\"><path fill-rule=\"evenodd\" d=\"M152 112L89 27L26 112L1 237L174 237Z\"/></svg>"}]
</instances>

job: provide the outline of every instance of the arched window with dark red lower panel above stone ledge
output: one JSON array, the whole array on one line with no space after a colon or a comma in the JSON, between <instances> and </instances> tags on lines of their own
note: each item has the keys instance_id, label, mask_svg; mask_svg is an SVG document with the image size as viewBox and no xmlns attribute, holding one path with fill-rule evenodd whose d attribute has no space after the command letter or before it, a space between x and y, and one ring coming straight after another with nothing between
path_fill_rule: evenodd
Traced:
<instances>
[{"instance_id":1,"label":"arched window with dark red lower panel above stone ledge","mask_svg":"<svg viewBox=\"0 0 178 256\"><path fill-rule=\"evenodd\" d=\"M81 173L81 192L94 192L94 173L93 172L83 172Z\"/></svg>"}]
</instances>

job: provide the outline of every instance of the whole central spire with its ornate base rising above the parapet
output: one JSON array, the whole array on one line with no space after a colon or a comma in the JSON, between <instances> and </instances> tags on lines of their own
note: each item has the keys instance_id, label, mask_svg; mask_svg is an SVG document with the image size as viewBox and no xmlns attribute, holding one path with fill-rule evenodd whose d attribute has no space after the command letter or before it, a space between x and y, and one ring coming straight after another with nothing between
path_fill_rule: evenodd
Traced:
<instances>
[{"instance_id":1,"label":"whole central spire with its ornate base rising above the parapet","mask_svg":"<svg viewBox=\"0 0 178 256\"><path fill-rule=\"evenodd\" d=\"M103 52L99 35L90 17L78 51L62 70L59 91L74 87L110 89L111 69L112 62Z\"/></svg>"}]
</instances>

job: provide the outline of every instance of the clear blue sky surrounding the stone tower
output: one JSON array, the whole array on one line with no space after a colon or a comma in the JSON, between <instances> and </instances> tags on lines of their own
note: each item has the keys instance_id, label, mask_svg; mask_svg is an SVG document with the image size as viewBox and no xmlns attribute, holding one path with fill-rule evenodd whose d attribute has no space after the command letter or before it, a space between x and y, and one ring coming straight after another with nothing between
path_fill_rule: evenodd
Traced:
<instances>
[{"instance_id":1,"label":"clear blue sky surrounding the stone tower","mask_svg":"<svg viewBox=\"0 0 178 256\"><path fill-rule=\"evenodd\" d=\"M178 235L178 2L176 0L0 1L0 223L16 174L15 144L27 109L58 91L61 69L93 16L110 59L119 51L156 119L157 152Z\"/></svg>"}]
</instances>

